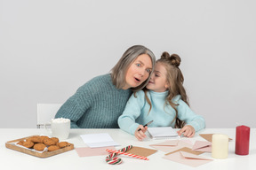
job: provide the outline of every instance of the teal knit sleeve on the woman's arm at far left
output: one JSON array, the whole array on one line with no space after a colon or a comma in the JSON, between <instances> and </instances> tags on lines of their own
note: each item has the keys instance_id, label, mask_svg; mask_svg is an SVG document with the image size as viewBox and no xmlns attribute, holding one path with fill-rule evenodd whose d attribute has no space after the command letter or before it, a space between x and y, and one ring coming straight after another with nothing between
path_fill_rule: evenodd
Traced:
<instances>
[{"instance_id":1,"label":"teal knit sleeve on the woman's arm at far left","mask_svg":"<svg viewBox=\"0 0 256 170\"><path fill-rule=\"evenodd\" d=\"M60 107L55 118L66 118L71 121L71 128L79 128L76 124L84 112L90 108L92 102L92 89L90 83L77 89L76 93Z\"/></svg>"}]
</instances>

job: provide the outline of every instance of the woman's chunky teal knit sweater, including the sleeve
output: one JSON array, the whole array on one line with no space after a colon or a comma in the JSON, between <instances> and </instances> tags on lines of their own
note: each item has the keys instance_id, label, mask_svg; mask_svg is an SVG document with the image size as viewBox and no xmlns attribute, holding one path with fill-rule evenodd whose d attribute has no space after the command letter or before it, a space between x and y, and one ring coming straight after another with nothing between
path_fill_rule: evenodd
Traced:
<instances>
[{"instance_id":1,"label":"woman's chunky teal knit sweater, including the sleeve","mask_svg":"<svg viewBox=\"0 0 256 170\"><path fill-rule=\"evenodd\" d=\"M131 89L116 89L110 73L100 75L77 89L55 118L68 118L71 128L119 128L117 119L131 95Z\"/></svg>"}]
</instances>

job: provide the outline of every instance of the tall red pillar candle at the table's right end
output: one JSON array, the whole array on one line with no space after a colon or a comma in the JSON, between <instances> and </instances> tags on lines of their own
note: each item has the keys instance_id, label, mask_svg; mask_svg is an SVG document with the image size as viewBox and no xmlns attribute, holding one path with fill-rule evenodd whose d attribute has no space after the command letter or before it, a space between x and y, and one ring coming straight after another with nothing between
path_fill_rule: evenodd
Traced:
<instances>
[{"instance_id":1,"label":"tall red pillar candle at the table's right end","mask_svg":"<svg viewBox=\"0 0 256 170\"><path fill-rule=\"evenodd\" d=\"M249 154L250 128L244 125L236 127L236 151L237 155Z\"/></svg>"}]
</instances>

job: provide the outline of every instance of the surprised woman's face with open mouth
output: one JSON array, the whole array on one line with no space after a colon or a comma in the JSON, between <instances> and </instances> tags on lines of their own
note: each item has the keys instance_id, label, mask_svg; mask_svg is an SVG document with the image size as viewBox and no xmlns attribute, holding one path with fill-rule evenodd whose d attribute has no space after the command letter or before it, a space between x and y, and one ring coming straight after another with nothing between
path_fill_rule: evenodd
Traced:
<instances>
[{"instance_id":1,"label":"surprised woman's face with open mouth","mask_svg":"<svg viewBox=\"0 0 256 170\"><path fill-rule=\"evenodd\" d=\"M148 79L152 70L152 61L148 54L141 54L129 66L125 75L125 86L123 89L136 88Z\"/></svg>"}]
</instances>

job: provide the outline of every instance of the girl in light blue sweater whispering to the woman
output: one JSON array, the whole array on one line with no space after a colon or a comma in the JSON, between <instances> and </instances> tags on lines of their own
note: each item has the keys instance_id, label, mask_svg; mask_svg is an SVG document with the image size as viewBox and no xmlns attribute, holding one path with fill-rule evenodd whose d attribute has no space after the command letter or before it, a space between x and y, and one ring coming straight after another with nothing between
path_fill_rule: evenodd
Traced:
<instances>
[{"instance_id":1,"label":"girl in light blue sweater whispering to the woman","mask_svg":"<svg viewBox=\"0 0 256 170\"><path fill-rule=\"evenodd\" d=\"M149 127L181 128L178 134L192 137L204 128L204 118L192 112L183 87L180 71L180 57L164 52L156 61L147 89L134 93L127 102L118 125L124 131L142 140L147 127L143 125L154 120ZM141 130L139 130L141 129Z\"/></svg>"}]
</instances>

